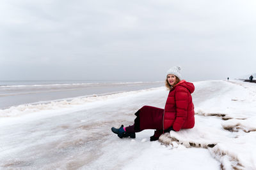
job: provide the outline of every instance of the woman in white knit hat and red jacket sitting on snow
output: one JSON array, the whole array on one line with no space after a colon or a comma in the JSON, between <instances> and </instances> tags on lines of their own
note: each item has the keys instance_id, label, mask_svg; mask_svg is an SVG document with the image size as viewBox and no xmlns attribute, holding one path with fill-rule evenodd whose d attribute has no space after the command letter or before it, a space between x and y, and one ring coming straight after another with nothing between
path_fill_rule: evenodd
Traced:
<instances>
[{"instance_id":1,"label":"woman in white knit hat and red jacket sitting on snow","mask_svg":"<svg viewBox=\"0 0 256 170\"><path fill-rule=\"evenodd\" d=\"M136 132L145 129L156 129L150 141L156 141L164 132L191 129L195 125L194 104L191 94L195 87L193 83L181 80L180 67L172 67L166 74L165 85L170 90L164 110L152 106L143 106L135 115L134 124L128 127L121 125L119 129L111 131L119 138L135 138ZM181 81L180 81L181 80Z\"/></svg>"}]
</instances>

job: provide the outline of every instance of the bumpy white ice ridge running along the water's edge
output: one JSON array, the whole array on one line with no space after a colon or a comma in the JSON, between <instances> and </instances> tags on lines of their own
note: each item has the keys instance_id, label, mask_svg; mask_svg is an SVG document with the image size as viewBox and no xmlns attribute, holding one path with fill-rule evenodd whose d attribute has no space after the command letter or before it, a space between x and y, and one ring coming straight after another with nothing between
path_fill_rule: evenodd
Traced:
<instances>
[{"instance_id":1,"label":"bumpy white ice ridge running along the water's edge","mask_svg":"<svg viewBox=\"0 0 256 170\"><path fill-rule=\"evenodd\" d=\"M133 96L139 95L140 93L147 93L156 90L163 90L164 87L156 87L145 90L136 90L131 92L114 92L109 94L100 94L100 95L92 95L92 96L81 96L70 99L60 99L56 101L51 101L47 103L35 103L35 104L22 104L19 106L12 106L8 109L0 110L0 122L4 118L12 118L12 117L20 117L22 115L28 114L39 114L41 115L41 111L58 111L61 109L67 109L69 111L83 110L84 108L88 108L88 106L97 106L98 103L102 104L102 102L108 103L119 97ZM44 114L44 113L42 113ZM47 114L47 113L46 113ZM4 123L4 121L2 121Z\"/></svg>"}]
</instances>

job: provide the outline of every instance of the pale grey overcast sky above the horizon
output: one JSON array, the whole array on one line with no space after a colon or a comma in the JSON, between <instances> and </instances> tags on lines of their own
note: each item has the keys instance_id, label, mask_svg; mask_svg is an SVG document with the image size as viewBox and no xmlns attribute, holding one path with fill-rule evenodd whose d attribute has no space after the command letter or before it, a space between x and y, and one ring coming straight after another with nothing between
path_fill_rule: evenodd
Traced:
<instances>
[{"instance_id":1,"label":"pale grey overcast sky above the horizon","mask_svg":"<svg viewBox=\"0 0 256 170\"><path fill-rule=\"evenodd\" d=\"M1 0L0 80L189 81L256 72L255 0Z\"/></svg>"}]
</instances>

